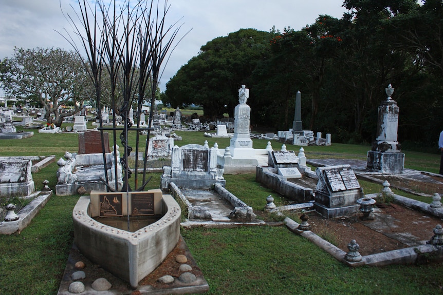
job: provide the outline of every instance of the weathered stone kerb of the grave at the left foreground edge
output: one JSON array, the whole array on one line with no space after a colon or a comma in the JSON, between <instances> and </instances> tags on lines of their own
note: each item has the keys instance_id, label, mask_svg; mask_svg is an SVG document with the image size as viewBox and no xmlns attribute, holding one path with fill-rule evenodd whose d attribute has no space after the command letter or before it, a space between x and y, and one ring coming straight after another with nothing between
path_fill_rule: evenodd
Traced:
<instances>
[{"instance_id":1,"label":"weathered stone kerb of the grave at the left foreground edge","mask_svg":"<svg viewBox=\"0 0 443 295\"><path fill-rule=\"evenodd\" d=\"M15 232L21 232L24 228L26 228L35 215L39 213L46 203L48 203L49 199L51 198L52 191L37 191L32 195L35 195L36 198L17 213L17 215L19 215L18 220L4 221L0 223L0 234L13 234ZM29 197L31 198L32 195Z\"/></svg>"}]
</instances>

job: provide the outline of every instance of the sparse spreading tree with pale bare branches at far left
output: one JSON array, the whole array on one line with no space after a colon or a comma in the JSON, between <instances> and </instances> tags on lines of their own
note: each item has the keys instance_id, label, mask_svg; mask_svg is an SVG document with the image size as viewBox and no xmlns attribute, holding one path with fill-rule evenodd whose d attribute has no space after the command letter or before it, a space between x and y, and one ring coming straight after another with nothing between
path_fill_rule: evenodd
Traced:
<instances>
[{"instance_id":1,"label":"sparse spreading tree with pale bare branches at far left","mask_svg":"<svg viewBox=\"0 0 443 295\"><path fill-rule=\"evenodd\" d=\"M48 123L61 126L64 117L79 112L92 92L80 57L62 49L15 48L0 63L0 82L6 93L27 99L38 97ZM72 110L61 112L70 102Z\"/></svg>"}]
</instances>

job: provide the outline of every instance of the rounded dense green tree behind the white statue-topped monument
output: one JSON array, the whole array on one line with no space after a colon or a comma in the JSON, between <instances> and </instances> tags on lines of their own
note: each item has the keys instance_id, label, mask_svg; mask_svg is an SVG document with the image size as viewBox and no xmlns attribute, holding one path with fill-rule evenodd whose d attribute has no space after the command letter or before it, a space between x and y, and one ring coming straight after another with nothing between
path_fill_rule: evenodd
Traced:
<instances>
[{"instance_id":1,"label":"rounded dense green tree behind the white statue-topped monument","mask_svg":"<svg viewBox=\"0 0 443 295\"><path fill-rule=\"evenodd\" d=\"M164 103L174 108L200 105L210 118L226 112L233 117L237 89L242 84L253 88L250 76L257 63L269 55L269 39L269 32L241 29L208 42L167 83ZM248 104L254 104L253 95L251 91Z\"/></svg>"}]
</instances>

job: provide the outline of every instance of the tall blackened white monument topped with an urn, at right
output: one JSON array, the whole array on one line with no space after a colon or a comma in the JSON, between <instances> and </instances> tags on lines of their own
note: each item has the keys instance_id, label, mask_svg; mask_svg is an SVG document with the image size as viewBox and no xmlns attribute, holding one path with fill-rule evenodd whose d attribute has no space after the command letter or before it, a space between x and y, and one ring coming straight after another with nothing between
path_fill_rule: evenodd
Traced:
<instances>
[{"instance_id":1,"label":"tall blackened white monument topped with an urn, at right","mask_svg":"<svg viewBox=\"0 0 443 295\"><path fill-rule=\"evenodd\" d=\"M400 108L392 99L394 88L385 88L387 99L378 107L377 137L367 152L366 168L384 174L400 174L404 167L404 153L397 141Z\"/></svg>"}]
</instances>

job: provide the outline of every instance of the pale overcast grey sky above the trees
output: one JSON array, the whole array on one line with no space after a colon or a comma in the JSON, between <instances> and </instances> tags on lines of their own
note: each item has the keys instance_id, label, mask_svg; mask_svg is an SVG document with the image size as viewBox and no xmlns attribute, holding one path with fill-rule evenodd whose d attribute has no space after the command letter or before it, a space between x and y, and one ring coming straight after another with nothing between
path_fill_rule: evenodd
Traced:
<instances>
[{"instance_id":1,"label":"pale overcast grey sky above the trees","mask_svg":"<svg viewBox=\"0 0 443 295\"><path fill-rule=\"evenodd\" d=\"M160 3L163 0L160 0ZM183 40L173 51L165 67L160 88L177 70L197 55L202 45L215 37L239 29L269 31L275 26L299 30L311 25L319 14L341 18L346 11L343 0L169 0L170 25L182 24L178 36ZM62 48L71 50L59 32L72 32L63 11L72 14L72 0L0 0L0 59L12 57L17 48ZM56 31L54 31L56 30ZM66 33L64 33L66 35ZM0 89L0 96L3 91Z\"/></svg>"}]
</instances>

